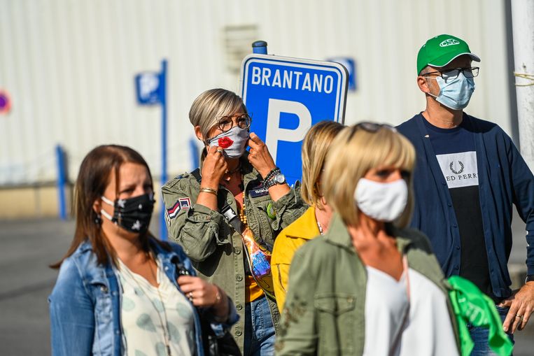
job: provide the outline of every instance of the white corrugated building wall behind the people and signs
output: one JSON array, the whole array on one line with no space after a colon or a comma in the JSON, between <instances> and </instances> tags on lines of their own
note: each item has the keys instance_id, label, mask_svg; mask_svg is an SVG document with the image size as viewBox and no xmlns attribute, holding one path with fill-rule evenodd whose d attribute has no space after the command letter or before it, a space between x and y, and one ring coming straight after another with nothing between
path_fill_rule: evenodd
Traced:
<instances>
[{"instance_id":1,"label":"white corrugated building wall behind the people and signs","mask_svg":"<svg viewBox=\"0 0 534 356\"><path fill-rule=\"evenodd\" d=\"M423 109L416 54L450 33L482 58L468 113L509 134L510 102L501 0L0 0L0 185L54 180L54 146L76 177L95 145L130 145L160 174L160 109L138 106L134 76L169 62L169 172L191 169L193 99L211 87L239 90L225 27L255 25L269 54L356 59L357 92L346 123L398 124ZM250 43L249 43L250 44ZM251 52L250 45L246 51Z\"/></svg>"}]
</instances>

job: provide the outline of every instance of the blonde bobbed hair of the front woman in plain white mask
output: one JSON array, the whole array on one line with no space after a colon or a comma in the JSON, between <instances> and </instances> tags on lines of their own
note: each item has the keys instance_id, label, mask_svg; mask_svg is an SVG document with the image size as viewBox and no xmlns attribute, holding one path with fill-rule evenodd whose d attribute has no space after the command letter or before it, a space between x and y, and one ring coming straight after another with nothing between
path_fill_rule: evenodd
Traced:
<instances>
[{"instance_id":1,"label":"blonde bobbed hair of the front woman in plain white mask","mask_svg":"<svg viewBox=\"0 0 534 356\"><path fill-rule=\"evenodd\" d=\"M415 150L405 136L392 127L380 127L370 132L354 125L346 127L335 138L326 157L323 189L326 201L347 225L358 226L358 206L354 190L367 171L380 166L394 166L408 171L408 201L405 211L395 221L406 227L412 218L414 206L412 172Z\"/></svg>"}]
</instances>

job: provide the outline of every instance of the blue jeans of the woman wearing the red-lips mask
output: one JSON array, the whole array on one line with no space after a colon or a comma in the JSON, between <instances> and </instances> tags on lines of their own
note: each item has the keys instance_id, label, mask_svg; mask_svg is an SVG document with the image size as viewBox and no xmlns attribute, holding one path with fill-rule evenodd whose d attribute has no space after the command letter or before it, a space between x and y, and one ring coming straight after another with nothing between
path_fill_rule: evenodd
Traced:
<instances>
[{"instance_id":1,"label":"blue jeans of the woman wearing the red-lips mask","mask_svg":"<svg viewBox=\"0 0 534 356\"><path fill-rule=\"evenodd\" d=\"M274 355L274 324L265 296L245 304L244 356Z\"/></svg>"}]
</instances>

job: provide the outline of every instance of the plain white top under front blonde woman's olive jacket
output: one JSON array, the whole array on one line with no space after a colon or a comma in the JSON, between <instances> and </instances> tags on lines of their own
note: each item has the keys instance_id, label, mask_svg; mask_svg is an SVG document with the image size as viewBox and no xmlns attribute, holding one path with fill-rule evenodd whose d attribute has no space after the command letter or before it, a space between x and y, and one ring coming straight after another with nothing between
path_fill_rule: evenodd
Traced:
<instances>
[{"instance_id":1,"label":"plain white top under front blonde woman's olive jacket","mask_svg":"<svg viewBox=\"0 0 534 356\"><path fill-rule=\"evenodd\" d=\"M378 269L366 268L363 355L458 355L447 296L437 285L414 269L395 280Z\"/></svg>"}]
</instances>

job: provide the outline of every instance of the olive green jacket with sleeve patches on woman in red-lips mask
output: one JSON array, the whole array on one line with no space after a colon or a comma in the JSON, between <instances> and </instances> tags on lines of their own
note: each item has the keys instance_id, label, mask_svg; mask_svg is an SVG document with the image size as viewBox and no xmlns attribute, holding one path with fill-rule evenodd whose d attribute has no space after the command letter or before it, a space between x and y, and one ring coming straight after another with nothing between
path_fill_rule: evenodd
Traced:
<instances>
[{"instance_id":1,"label":"olive green jacket with sleeve patches on woman in red-lips mask","mask_svg":"<svg viewBox=\"0 0 534 356\"><path fill-rule=\"evenodd\" d=\"M244 203L248 227L272 249L276 235L296 220L305 206L300 198L300 183L288 194L272 201L262 185L258 171L241 157L244 174ZM191 173L177 176L162 187L163 201L167 208L166 220L169 238L182 245L192 260L199 276L221 287L235 303L239 322L231 333L243 352L245 323L245 270L241 235L234 232L227 220L218 211L196 204L200 183ZM237 204L232 193L219 187L218 204L232 206L237 213ZM272 204L274 218L267 215L267 206ZM275 328L279 326L279 311L276 302L269 300Z\"/></svg>"}]
</instances>

